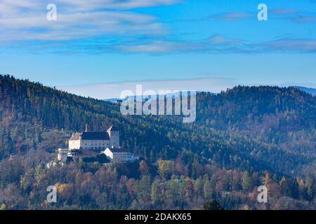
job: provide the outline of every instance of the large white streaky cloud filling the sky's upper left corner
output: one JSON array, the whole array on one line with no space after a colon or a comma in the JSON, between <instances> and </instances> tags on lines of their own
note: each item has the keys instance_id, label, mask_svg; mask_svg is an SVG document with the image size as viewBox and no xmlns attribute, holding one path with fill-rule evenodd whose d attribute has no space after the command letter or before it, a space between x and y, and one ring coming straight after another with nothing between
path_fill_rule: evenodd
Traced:
<instances>
[{"instance_id":1,"label":"large white streaky cloud filling the sky's upper left corner","mask_svg":"<svg viewBox=\"0 0 316 224\"><path fill-rule=\"evenodd\" d=\"M178 0L55 0L58 20L46 20L43 1L0 1L1 42L58 41L100 35L166 34L152 15L131 13L132 8L160 6Z\"/></svg>"}]
</instances>

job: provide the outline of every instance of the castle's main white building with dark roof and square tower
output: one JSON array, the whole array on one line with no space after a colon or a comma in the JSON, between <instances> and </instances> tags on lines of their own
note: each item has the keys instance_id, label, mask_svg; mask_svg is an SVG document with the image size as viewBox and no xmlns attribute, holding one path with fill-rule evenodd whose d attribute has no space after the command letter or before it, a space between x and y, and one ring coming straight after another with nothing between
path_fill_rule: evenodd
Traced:
<instances>
[{"instance_id":1,"label":"castle's main white building with dark roof and square tower","mask_svg":"<svg viewBox=\"0 0 316 224\"><path fill-rule=\"evenodd\" d=\"M86 125L85 132L72 134L68 148L70 150L104 150L107 147L120 148L119 130L113 125L107 132L88 132L88 125Z\"/></svg>"}]
</instances>

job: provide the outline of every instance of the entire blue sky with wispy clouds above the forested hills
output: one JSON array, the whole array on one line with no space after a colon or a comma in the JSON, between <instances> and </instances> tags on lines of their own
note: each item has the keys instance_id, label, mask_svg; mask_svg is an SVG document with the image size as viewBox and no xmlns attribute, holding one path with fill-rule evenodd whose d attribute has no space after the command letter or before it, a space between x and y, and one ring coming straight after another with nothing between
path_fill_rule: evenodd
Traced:
<instances>
[{"instance_id":1,"label":"entire blue sky with wispy clouds above the forested hills","mask_svg":"<svg viewBox=\"0 0 316 224\"><path fill-rule=\"evenodd\" d=\"M316 87L315 27L316 0L0 0L0 73L100 99Z\"/></svg>"}]
</instances>

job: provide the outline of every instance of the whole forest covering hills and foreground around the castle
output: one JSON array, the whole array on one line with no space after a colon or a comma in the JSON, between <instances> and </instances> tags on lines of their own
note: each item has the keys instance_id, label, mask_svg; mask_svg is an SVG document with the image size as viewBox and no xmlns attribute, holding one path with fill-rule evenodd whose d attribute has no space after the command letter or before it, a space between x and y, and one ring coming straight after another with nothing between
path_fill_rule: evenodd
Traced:
<instances>
[{"instance_id":1,"label":"whole forest covering hills and foreground around the castle","mask_svg":"<svg viewBox=\"0 0 316 224\"><path fill-rule=\"evenodd\" d=\"M119 105L0 76L0 209L316 209L316 97L295 87L197 94L197 120L121 116ZM72 132L120 129L139 161L46 168ZM46 202L46 188L58 202ZM268 188L268 203L257 188Z\"/></svg>"}]
</instances>

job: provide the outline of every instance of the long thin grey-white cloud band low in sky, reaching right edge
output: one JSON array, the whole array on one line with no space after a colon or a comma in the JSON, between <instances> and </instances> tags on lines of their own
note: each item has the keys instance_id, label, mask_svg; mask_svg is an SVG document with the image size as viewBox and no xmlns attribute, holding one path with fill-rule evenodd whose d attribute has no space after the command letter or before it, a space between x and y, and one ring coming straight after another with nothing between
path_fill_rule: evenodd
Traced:
<instances>
[{"instance_id":1,"label":"long thin grey-white cloud band low in sky, reaching right edge","mask_svg":"<svg viewBox=\"0 0 316 224\"><path fill-rule=\"evenodd\" d=\"M265 42L250 42L225 36L211 36L200 41L133 41L104 45L103 48L93 49L93 52L131 52L147 54L167 54L178 52L199 53L241 53L256 54L261 52L316 52L316 39L312 38L282 38ZM81 50L85 50L82 48ZM91 49L88 49L91 50Z\"/></svg>"}]
</instances>

